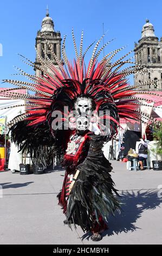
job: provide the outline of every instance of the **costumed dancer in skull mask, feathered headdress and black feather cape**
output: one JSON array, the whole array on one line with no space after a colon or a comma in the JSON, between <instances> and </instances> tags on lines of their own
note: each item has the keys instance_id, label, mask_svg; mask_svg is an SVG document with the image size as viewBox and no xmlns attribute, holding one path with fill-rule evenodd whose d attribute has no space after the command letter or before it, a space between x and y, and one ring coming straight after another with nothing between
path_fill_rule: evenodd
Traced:
<instances>
[{"instance_id":1,"label":"costumed dancer in skull mask, feathered headdress and black feather cape","mask_svg":"<svg viewBox=\"0 0 162 256\"><path fill-rule=\"evenodd\" d=\"M138 94L145 92L137 90L141 84L129 86L126 79L139 71L139 66L121 70L125 63L134 64L131 58L123 60L129 53L111 63L123 47L108 53L98 63L99 54L110 42L97 52L102 36L96 42L86 69L85 55L93 44L82 53L82 34L78 53L72 34L76 54L73 64L67 59L66 38L62 45L64 63L53 52L59 68L46 53L45 58L38 56L41 66L22 56L24 62L43 75L37 77L18 69L31 82L4 80L17 87L5 89L1 95L27 101L26 112L8 123L12 139L20 150L27 150L33 162L47 161L54 155L62 161L66 173L58 198L66 215L64 223L92 231L92 239L97 241L107 229L109 214L120 210L110 174L111 163L103 155L102 147L117 134L120 117L140 120L143 113L139 110L139 100L142 98ZM19 88L36 94L16 93Z\"/></svg>"}]
</instances>

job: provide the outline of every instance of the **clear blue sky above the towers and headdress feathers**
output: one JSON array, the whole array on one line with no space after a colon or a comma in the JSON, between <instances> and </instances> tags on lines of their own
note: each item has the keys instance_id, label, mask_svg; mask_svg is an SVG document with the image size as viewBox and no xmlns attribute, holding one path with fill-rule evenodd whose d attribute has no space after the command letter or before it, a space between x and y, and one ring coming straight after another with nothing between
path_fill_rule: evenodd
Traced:
<instances>
[{"instance_id":1,"label":"clear blue sky above the towers and headdress feathers","mask_svg":"<svg viewBox=\"0 0 162 256\"><path fill-rule=\"evenodd\" d=\"M125 54L134 47L134 41L141 36L141 29L146 18L155 28L155 35L162 36L162 1L136 0L135 2L109 0L8 0L0 2L0 44L3 45L3 56L0 57L0 80L11 78L15 73L14 65L28 72L32 69L24 66L17 53L35 60L35 37L41 22L49 14L55 23L55 31L60 31L62 38L67 35L66 48L68 57L73 59L72 27L76 41L84 31L84 47L102 35L104 23L105 41L115 38L105 53L125 46ZM90 54L90 53L89 53ZM120 54L119 54L120 57ZM13 77L12 77L13 78ZM131 79L131 82L133 80ZM4 84L2 85L5 86Z\"/></svg>"}]
</instances>

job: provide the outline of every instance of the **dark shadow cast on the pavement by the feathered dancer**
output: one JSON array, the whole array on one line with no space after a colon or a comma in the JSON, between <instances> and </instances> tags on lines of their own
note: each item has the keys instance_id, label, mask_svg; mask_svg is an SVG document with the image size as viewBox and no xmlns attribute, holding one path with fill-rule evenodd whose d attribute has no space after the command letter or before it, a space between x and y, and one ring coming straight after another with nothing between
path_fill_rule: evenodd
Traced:
<instances>
[{"instance_id":1,"label":"dark shadow cast on the pavement by the feathered dancer","mask_svg":"<svg viewBox=\"0 0 162 256\"><path fill-rule=\"evenodd\" d=\"M122 191L119 198L121 202L121 212L117 212L115 217L110 216L108 221L108 230L102 233L102 236L111 236L122 232L135 231L140 229L135 222L141 217L145 210L154 210L160 207L162 198L158 197L158 191ZM91 233L82 236L82 240L89 240Z\"/></svg>"}]
</instances>

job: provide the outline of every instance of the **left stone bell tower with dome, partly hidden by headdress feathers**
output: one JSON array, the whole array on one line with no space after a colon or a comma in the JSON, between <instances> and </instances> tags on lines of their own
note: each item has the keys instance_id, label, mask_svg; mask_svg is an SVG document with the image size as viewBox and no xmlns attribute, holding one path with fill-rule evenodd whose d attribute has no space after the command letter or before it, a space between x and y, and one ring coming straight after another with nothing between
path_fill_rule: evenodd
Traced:
<instances>
[{"instance_id":1,"label":"left stone bell tower with dome, partly hidden by headdress feathers","mask_svg":"<svg viewBox=\"0 0 162 256\"><path fill-rule=\"evenodd\" d=\"M54 53L57 58L61 60L61 40L61 33L59 31L54 31L54 22L53 19L49 17L49 10L47 8L46 17L42 20L42 28L37 32L35 46L38 54L40 54L42 58L45 58L44 53L46 53L56 67L57 63L55 61ZM35 63L41 65L38 62L37 54ZM43 75L40 70L35 71L37 76Z\"/></svg>"}]
</instances>

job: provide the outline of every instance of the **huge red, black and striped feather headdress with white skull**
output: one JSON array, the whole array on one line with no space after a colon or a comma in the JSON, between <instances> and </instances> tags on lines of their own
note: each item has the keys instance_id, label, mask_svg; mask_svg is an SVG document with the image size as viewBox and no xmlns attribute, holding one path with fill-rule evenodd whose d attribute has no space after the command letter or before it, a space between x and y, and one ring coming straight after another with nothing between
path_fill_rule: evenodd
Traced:
<instances>
[{"instance_id":1,"label":"huge red, black and striped feather headdress with white skull","mask_svg":"<svg viewBox=\"0 0 162 256\"><path fill-rule=\"evenodd\" d=\"M137 121L141 119L144 113L139 109L139 100L142 100L142 97L139 95L146 94L146 92L138 90L138 87L141 85L145 86L148 83L154 83L154 81L149 81L147 83L129 86L127 77L135 72L140 72L140 66L135 65L131 60L132 58L127 58L131 52L125 54L125 56L119 58L114 63L112 62L115 54L120 52L124 47L106 54L98 62L98 57L103 48L111 42L108 41L98 49L104 35L96 42L86 68L86 53L95 42L83 52L82 33L80 51L78 52L73 32L72 35L76 55L73 64L67 58L65 37L62 44L63 62L53 52L57 67L51 62L45 52L43 54L44 58L37 53L37 63L39 62L41 65L33 63L29 59L21 56L23 62L35 70L40 70L40 73L43 75L40 77L30 75L18 68L20 74L27 77L29 82L3 80L3 82L14 84L16 88L1 90L1 96L26 101L25 113L11 120L8 123L8 128L12 131L15 142L23 147L25 141L24 147L30 148L31 151L33 147L31 138L37 138L38 136L37 143L35 144L35 148L37 149L36 156L38 156L38 149L42 147L42 144L43 147L46 144L47 146L50 144L49 139L51 135L53 137L53 145L57 149L64 151L70 133L72 132L68 125L69 123L74 123L75 120L71 114L74 109L79 115L83 110L83 113L87 116L88 111L93 111L94 115L90 119L90 123L94 123L94 119L99 118L100 121L96 126L96 130L99 130L99 133L103 132L103 135L105 132L105 138L111 139L118 132L120 117ZM49 45L49 47L51 46ZM51 51L53 51L52 48ZM122 66L125 64L131 64L131 66L122 69ZM24 95L16 93L16 90L19 88L28 89L29 91L35 92L35 94L29 93L28 95ZM152 95L157 94L152 93ZM143 100L146 100L146 98ZM82 107L85 108L83 109ZM159 124L148 115L147 119ZM104 125L106 121L109 121L108 127ZM20 133L21 131L21 125L27 135L22 136L22 138L20 134L18 135L18 132Z\"/></svg>"}]
</instances>

